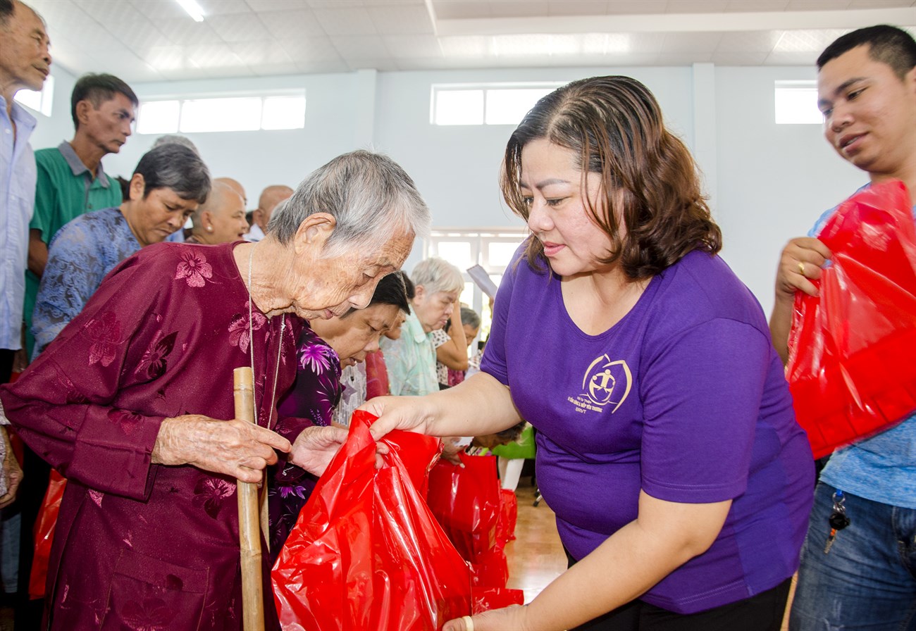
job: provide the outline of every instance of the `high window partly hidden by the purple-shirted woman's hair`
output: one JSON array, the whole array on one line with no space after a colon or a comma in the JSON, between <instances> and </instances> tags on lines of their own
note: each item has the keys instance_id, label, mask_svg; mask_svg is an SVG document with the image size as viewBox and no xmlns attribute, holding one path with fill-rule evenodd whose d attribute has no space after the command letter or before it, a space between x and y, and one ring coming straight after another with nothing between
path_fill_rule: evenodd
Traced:
<instances>
[{"instance_id":1,"label":"high window partly hidden by the purple-shirted woman's hair","mask_svg":"<svg viewBox=\"0 0 916 631\"><path fill-rule=\"evenodd\" d=\"M540 97L562 83L435 84L431 125L518 125Z\"/></svg>"}]
</instances>

